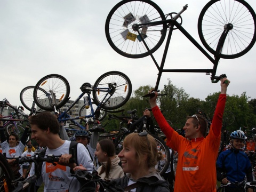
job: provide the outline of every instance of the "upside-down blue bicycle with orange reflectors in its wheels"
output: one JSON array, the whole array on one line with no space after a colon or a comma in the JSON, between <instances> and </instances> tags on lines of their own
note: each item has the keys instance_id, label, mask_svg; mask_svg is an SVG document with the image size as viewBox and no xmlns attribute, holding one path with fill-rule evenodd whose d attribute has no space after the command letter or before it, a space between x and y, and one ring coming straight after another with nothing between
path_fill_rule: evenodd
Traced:
<instances>
[{"instance_id":1,"label":"upside-down blue bicycle with orange reflectors in its wheels","mask_svg":"<svg viewBox=\"0 0 256 192\"><path fill-rule=\"evenodd\" d=\"M91 121L94 123L94 128L97 129L100 117L103 118L101 110L108 111L123 106L131 96L132 84L125 74L119 71L109 71L101 75L94 85L84 83L80 89L82 93L73 103L70 103L70 106L65 111L59 114L58 120L60 122L71 121L74 125L85 129L83 125L75 120L82 119L87 122L88 118L92 118ZM39 108L59 113L58 109L69 100L69 93L70 86L67 79L58 74L51 74L38 81L33 95L34 101ZM68 112L85 94L87 96L84 97L84 103L87 110L83 109L79 114L84 116L71 117ZM93 107L93 103L97 106L96 108L95 106Z\"/></svg>"}]
</instances>

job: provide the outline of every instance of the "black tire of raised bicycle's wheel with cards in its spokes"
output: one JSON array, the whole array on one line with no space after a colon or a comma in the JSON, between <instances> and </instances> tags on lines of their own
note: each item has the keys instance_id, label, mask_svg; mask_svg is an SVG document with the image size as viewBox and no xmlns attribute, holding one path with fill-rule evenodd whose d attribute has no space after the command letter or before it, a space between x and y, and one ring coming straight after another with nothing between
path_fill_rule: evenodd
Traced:
<instances>
[{"instance_id":1,"label":"black tire of raised bicycle's wheel with cards in its spokes","mask_svg":"<svg viewBox=\"0 0 256 192\"><path fill-rule=\"evenodd\" d=\"M118 7L122 6L123 4L125 3L128 3L128 2L135 2L135 1L139 1L139 2L143 2L143 3L148 3L150 4L151 6L153 6L157 12L159 13L159 15L161 15L161 18L162 20L165 20L165 15L163 13L163 11L161 10L161 8L154 2L152 1L149 1L149 0L124 0L124 1L121 1L119 3L117 3L113 9L110 10L108 16L107 16L107 19L106 19L106 23L105 23L105 35L107 37L107 41L109 43L109 45L118 53L118 54L121 54L123 55L124 57L127 57L127 58L143 58L143 57L147 57L148 55L150 55L150 52L151 53L154 53L164 42L164 39L165 39L165 36L166 36L166 31L167 31L167 25L163 25L163 30L162 30L162 34L161 34L161 38L159 39L158 43L156 44L156 46L153 47L153 49L150 50L150 52L145 52L145 53L142 53L142 54L128 54L126 52L123 52L121 50L119 50L116 45L111 41L111 37L109 36L109 23L110 23L110 19L111 19L111 16L113 15L113 13L118 9ZM142 42L141 42L142 43Z\"/></svg>"}]
</instances>

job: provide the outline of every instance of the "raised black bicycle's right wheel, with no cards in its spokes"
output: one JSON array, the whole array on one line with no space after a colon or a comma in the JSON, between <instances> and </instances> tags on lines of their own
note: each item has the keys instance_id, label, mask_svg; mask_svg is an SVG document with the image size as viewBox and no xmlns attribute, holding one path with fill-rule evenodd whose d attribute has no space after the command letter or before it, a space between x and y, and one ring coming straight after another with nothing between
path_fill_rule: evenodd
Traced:
<instances>
[{"instance_id":1,"label":"raised black bicycle's right wheel, with no cards in its spokes","mask_svg":"<svg viewBox=\"0 0 256 192\"><path fill-rule=\"evenodd\" d=\"M222 47L221 58L234 59L247 53L256 41L256 15L243 0L212 0L198 18L198 34L205 48L216 54L219 38L227 24L231 29Z\"/></svg>"}]
</instances>

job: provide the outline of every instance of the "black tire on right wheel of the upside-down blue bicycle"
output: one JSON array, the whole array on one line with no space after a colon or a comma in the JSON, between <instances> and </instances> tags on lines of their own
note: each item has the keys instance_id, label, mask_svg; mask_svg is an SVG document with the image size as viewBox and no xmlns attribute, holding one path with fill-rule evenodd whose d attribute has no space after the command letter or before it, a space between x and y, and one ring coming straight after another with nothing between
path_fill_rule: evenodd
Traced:
<instances>
[{"instance_id":1,"label":"black tire on right wheel of the upside-down blue bicycle","mask_svg":"<svg viewBox=\"0 0 256 192\"><path fill-rule=\"evenodd\" d=\"M131 83L131 80L130 80L130 78L129 78L127 75L125 75L124 73L122 73L122 72L120 72L120 71L109 71L109 72L107 72L107 73L105 73L105 74L102 74L102 75L95 81L94 87L97 86L97 85L99 84L99 82L100 82L103 78L105 78L105 77L107 77L107 76L110 76L110 75L115 75L115 74L117 74L117 75L122 76L123 78L125 78L125 80L127 81L127 84L129 85L129 90L128 90L127 94L126 94L125 99L124 99L121 103L117 104L116 106L104 106L104 105L102 105L101 108L103 108L103 109L117 109L117 108L119 108L119 107L122 107L122 106L130 99L130 97L131 97L131 94L132 94L132 83ZM95 105L99 106L101 101L98 100L97 91L95 91L95 90L93 89L92 95L93 95L93 101L94 101Z\"/></svg>"}]
</instances>

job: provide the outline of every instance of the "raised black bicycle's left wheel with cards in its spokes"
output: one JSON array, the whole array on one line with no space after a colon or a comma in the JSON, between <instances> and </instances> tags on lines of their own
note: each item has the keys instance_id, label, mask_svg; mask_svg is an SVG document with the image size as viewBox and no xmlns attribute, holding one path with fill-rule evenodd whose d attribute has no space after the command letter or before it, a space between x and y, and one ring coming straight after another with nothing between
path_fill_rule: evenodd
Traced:
<instances>
[{"instance_id":1,"label":"raised black bicycle's left wheel with cards in its spokes","mask_svg":"<svg viewBox=\"0 0 256 192\"><path fill-rule=\"evenodd\" d=\"M165 20L163 11L149 0L124 0L116 4L108 14L105 34L109 45L128 58L142 58L154 53L163 43L167 25L143 26L139 29L147 46L143 44L133 24Z\"/></svg>"}]
</instances>

